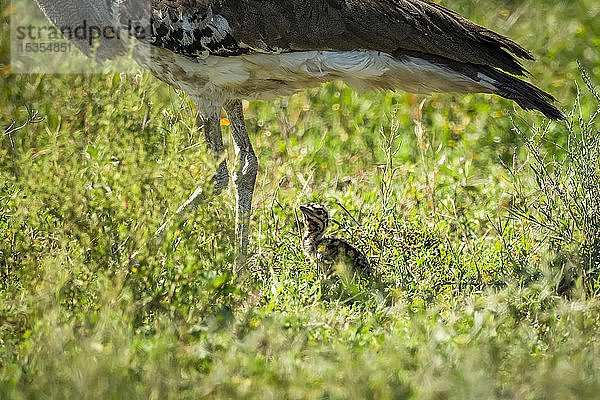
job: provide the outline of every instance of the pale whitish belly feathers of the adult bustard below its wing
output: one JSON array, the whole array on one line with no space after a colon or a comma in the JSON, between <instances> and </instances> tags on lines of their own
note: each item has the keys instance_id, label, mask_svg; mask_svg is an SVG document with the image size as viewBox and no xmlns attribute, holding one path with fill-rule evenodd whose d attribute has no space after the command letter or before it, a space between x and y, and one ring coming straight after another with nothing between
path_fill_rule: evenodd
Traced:
<instances>
[{"instance_id":1,"label":"pale whitish belly feathers of the adult bustard below its wing","mask_svg":"<svg viewBox=\"0 0 600 400\"><path fill-rule=\"evenodd\" d=\"M425 59L406 56L400 60L377 51L254 53L192 59L141 44L136 46L134 56L154 75L199 99L200 108L210 110L229 99L270 99L336 80L358 91L494 91L494 80L483 74L471 78Z\"/></svg>"}]
</instances>

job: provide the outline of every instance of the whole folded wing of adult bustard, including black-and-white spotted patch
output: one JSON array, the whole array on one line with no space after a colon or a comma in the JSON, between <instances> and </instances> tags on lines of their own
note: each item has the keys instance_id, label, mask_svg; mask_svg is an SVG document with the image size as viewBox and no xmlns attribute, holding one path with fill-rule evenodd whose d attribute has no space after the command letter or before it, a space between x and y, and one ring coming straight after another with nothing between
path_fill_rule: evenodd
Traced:
<instances>
[{"instance_id":1,"label":"whole folded wing of adult bustard, including black-and-white spotted patch","mask_svg":"<svg viewBox=\"0 0 600 400\"><path fill-rule=\"evenodd\" d=\"M188 56L359 49L394 55L417 52L518 75L525 70L516 57L533 59L510 39L426 0L115 3L121 24L130 31L139 23L145 33L138 36Z\"/></svg>"}]
</instances>

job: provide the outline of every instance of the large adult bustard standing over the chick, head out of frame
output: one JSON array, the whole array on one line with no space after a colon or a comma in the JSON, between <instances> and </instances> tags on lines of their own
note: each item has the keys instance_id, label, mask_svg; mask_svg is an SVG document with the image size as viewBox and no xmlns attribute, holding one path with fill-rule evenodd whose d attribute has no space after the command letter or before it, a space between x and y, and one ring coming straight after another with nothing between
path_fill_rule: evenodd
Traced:
<instances>
[{"instance_id":1,"label":"large adult bustard standing over the chick, head out of frame","mask_svg":"<svg viewBox=\"0 0 600 400\"><path fill-rule=\"evenodd\" d=\"M236 152L236 265L245 264L258 162L240 99L291 94L343 80L361 89L413 93L492 93L524 109L563 118L551 95L515 78L532 55L510 39L425 0L36 0L61 27L113 26L99 58L125 51L183 89L203 118L208 148L220 158L220 113ZM134 29L132 29L134 27ZM115 39L115 36L119 38ZM86 40L74 39L85 53ZM510 74L510 75L509 75ZM227 186L224 161L215 191ZM178 211L193 208L200 190Z\"/></svg>"}]
</instances>

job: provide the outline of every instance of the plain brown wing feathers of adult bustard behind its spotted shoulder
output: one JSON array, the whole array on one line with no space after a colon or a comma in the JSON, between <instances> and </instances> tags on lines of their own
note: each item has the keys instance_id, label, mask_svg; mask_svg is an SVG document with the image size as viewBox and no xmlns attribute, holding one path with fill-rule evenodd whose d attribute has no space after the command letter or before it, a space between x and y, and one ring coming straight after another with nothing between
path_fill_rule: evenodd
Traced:
<instances>
[{"instance_id":1,"label":"plain brown wing feathers of adult bustard behind its spotted shoulder","mask_svg":"<svg viewBox=\"0 0 600 400\"><path fill-rule=\"evenodd\" d=\"M233 36L254 48L412 51L513 74L531 53L510 39L425 0L215 1ZM218 5L217 5L218 4ZM510 53L514 54L511 55ZM515 57L516 56L516 57Z\"/></svg>"}]
</instances>

